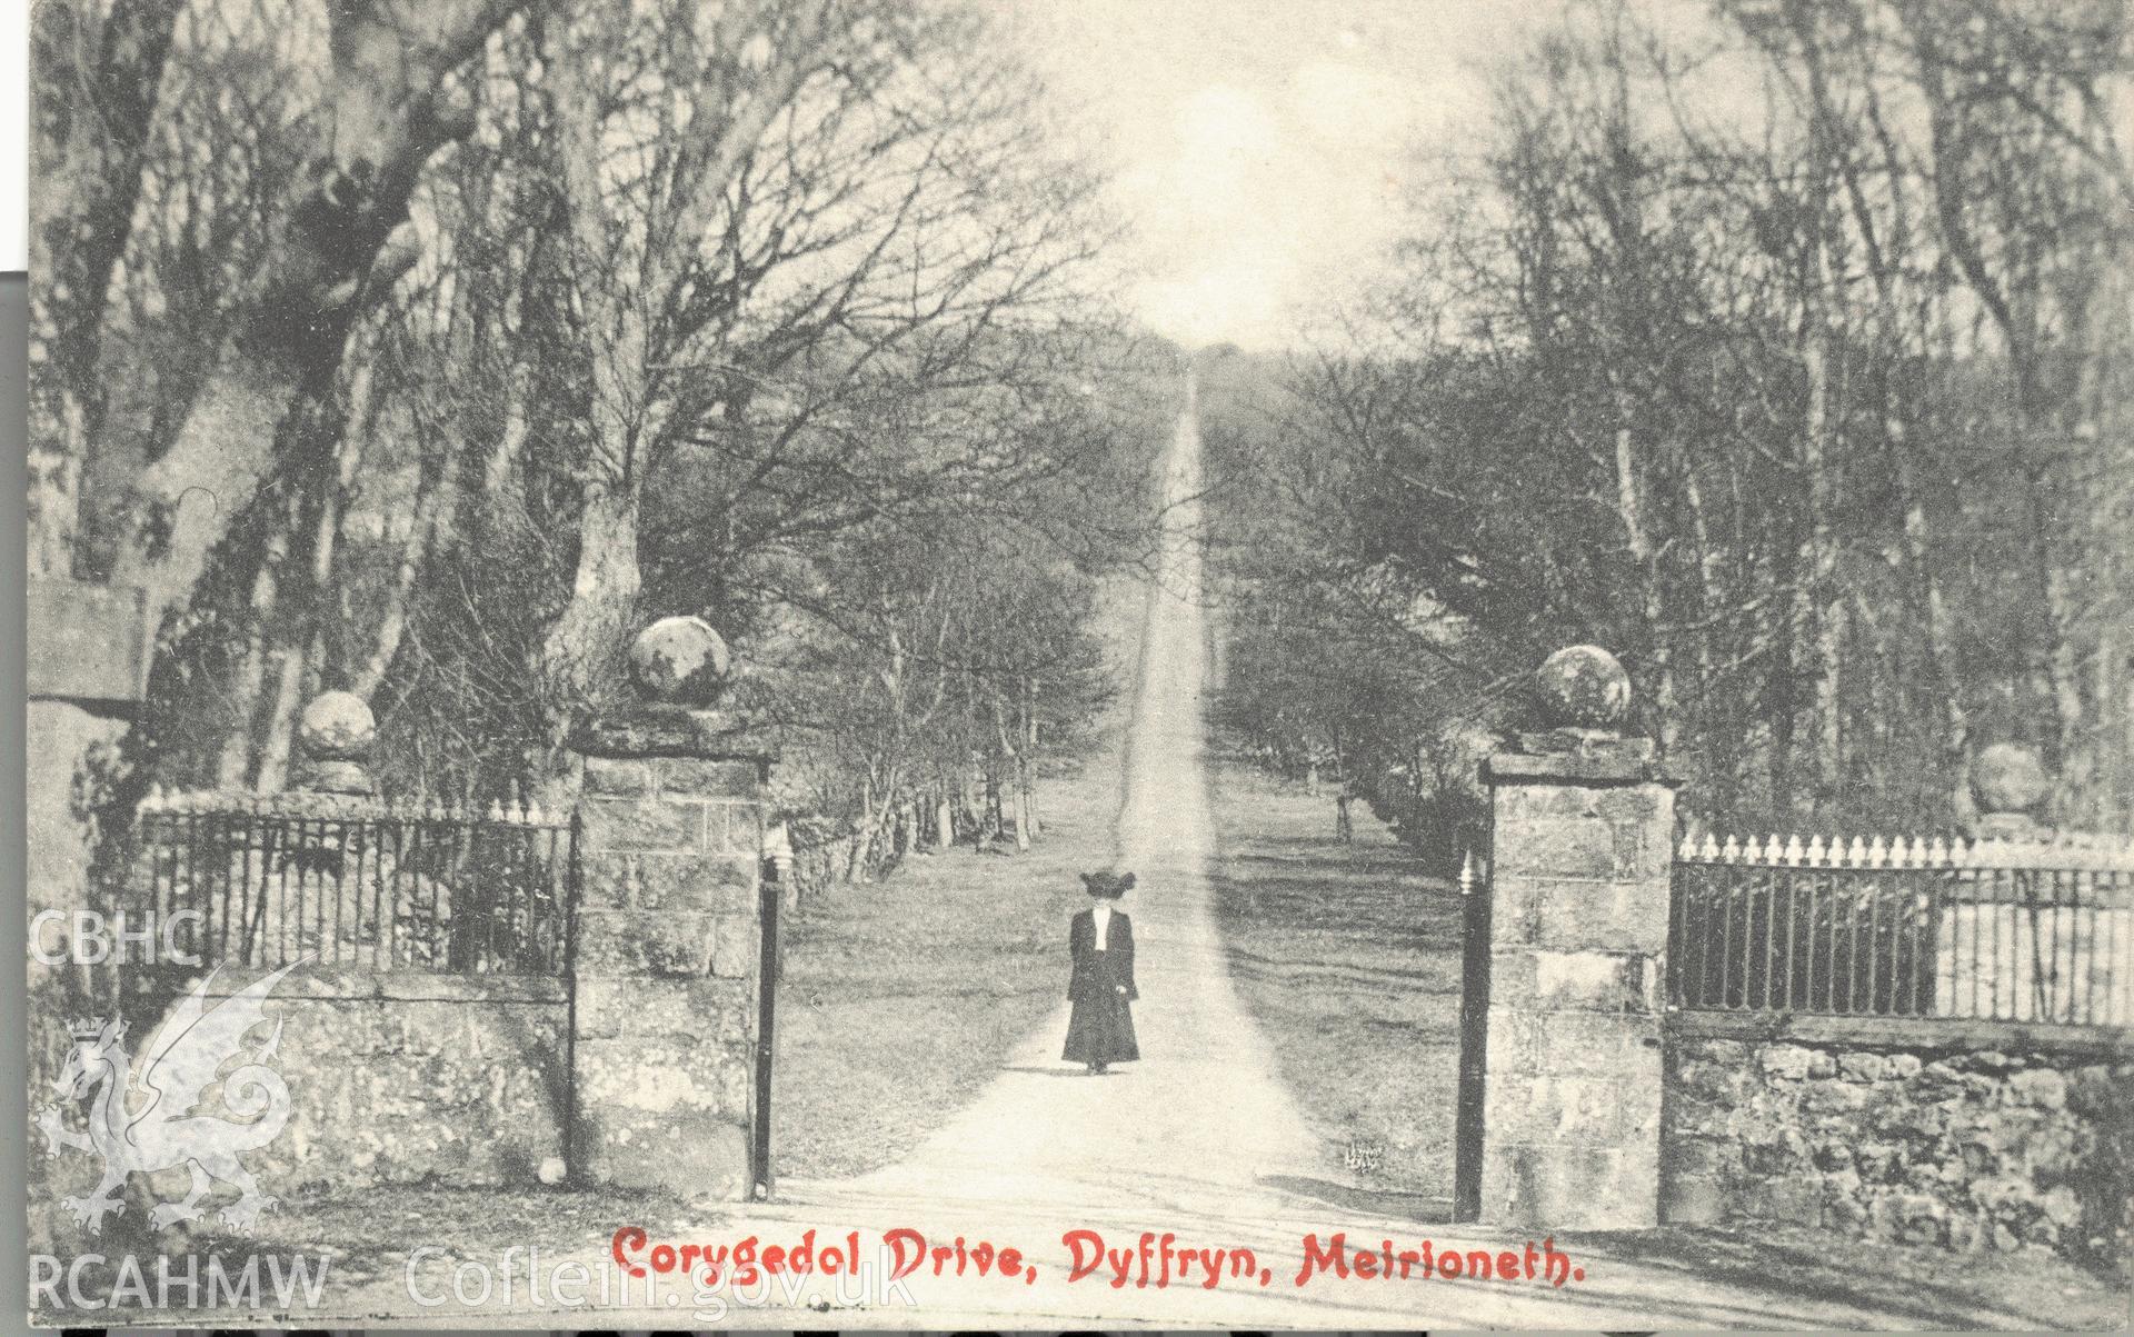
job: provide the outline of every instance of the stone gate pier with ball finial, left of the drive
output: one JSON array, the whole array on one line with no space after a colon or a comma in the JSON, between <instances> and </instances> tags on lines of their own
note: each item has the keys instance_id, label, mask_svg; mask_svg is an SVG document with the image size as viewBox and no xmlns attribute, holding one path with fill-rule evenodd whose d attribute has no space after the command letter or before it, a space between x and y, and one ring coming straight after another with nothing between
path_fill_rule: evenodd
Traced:
<instances>
[{"instance_id":1,"label":"stone gate pier with ball finial, left of the drive","mask_svg":"<svg viewBox=\"0 0 2134 1337\"><path fill-rule=\"evenodd\" d=\"M572 974L572 1175L747 1196L758 1077L760 857L768 757L715 708L728 672L700 618L638 635L642 699L587 719Z\"/></svg>"}]
</instances>

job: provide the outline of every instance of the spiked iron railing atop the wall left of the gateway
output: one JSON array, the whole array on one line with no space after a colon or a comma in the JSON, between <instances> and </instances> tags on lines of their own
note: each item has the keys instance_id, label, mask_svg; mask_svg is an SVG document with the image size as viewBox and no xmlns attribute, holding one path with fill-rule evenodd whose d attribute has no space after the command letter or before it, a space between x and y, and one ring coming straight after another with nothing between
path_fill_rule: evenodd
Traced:
<instances>
[{"instance_id":1,"label":"spiked iron railing atop the wall left of the gateway","mask_svg":"<svg viewBox=\"0 0 2134 1337\"><path fill-rule=\"evenodd\" d=\"M561 974L568 815L339 795L156 791L134 887L201 964ZM190 915L179 915L190 911Z\"/></svg>"}]
</instances>

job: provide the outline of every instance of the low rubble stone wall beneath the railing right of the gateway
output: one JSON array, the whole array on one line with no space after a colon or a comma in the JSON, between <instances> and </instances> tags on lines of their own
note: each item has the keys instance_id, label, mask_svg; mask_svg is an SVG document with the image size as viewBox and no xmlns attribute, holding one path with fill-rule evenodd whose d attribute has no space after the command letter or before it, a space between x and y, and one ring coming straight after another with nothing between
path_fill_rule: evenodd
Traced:
<instances>
[{"instance_id":1,"label":"low rubble stone wall beneath the railing right of the gateway","mask_svg":"<svg viewBox=\"0 0 2134 1337\"><path fill-rule=\"evenodd\" d=\"M1675 1013L1660 1218L2130 1269L2134 1041Z\"/></svg>"}]
</instances>

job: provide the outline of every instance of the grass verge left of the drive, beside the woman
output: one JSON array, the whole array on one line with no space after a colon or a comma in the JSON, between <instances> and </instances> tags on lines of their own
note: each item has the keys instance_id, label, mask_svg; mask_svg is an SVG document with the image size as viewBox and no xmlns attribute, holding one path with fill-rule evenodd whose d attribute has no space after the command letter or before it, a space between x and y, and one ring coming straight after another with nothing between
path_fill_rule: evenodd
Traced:
<instances>
[{"instance_id":1,"label":"grass verge left of the drive, beside the woman","mask_svg":"<svg viewBox=\"0 0 2134 1337\"><path fill-rule=\"evenodd\" d=\"M1105 593L1108 659L1131 682L1144 589ZM779 979L773 1162L832 1179L890 1164L962 1109L1067 996L1078 872L1114 853L1125 706L1080 759L1037 776L1041 834L1022 853L907 857L832 885L787 923ZM1065 1038L1065 1036L1063 1036Z\"/></svg>"}]
</instances>

